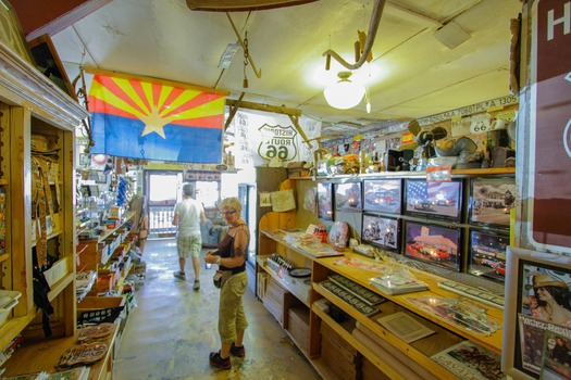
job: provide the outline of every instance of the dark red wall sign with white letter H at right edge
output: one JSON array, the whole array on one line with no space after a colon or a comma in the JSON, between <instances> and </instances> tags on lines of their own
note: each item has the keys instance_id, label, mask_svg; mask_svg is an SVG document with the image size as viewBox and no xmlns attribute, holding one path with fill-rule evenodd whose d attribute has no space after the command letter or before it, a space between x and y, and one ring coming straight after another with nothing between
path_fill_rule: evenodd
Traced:
<instances>
[{"instance_id":1,"label":"dark red wall sign with white letter H at right edge","mask_svg":"<svg viewBox=\"0 0 571 380\"><path fill-rule=\"evenodd\" d=\"M536 1L532 25L531 237L571 248L571 1Z\"/></svg>"}]
</instances>

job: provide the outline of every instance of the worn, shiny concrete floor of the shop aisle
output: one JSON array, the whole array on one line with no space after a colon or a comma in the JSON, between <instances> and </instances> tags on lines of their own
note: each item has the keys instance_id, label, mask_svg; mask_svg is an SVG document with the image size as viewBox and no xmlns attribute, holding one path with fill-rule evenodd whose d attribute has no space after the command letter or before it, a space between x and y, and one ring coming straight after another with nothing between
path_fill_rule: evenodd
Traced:
<instances>
[{"instance_id":1,"label":"worn, shiny concrete floor of the shop aisle","mask_svg":"<svg viewBox=\"0 0 571 380\"><path fill-rule=\"evenodd\" d=\"M248 290L244 306L249 327L246 357L233 357L232 369L210 367L208 355L220 349L219 290L212 284L215 265L206 269L201 253L199 291L173 277L178 269L175 239L149 240L147 276L136 286L137 307L129 315L115 357L114 378L129 379L320 379L274 317Z\"/></svg>"}]
</instances>

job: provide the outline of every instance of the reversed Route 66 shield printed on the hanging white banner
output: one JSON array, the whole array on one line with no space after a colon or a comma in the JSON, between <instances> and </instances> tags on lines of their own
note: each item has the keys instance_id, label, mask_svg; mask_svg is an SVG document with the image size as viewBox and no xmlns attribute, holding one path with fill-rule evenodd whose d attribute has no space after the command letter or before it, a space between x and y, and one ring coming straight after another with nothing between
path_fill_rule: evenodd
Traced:
<instances>
[{"instance_id":1,"label":"reversed Route 66 shield printed on the hanging white banner","mask_svg":"<svg viewBox=\"0 0 571 380\"><path fill-rule=\"evenodd\" d=\"M277 159L280 161L291 161L297 156L295 138L297 131L293 126L262 125L260 128L262 140L258 145L258 154L265 160Z\"/></svg>"}]
</instances>

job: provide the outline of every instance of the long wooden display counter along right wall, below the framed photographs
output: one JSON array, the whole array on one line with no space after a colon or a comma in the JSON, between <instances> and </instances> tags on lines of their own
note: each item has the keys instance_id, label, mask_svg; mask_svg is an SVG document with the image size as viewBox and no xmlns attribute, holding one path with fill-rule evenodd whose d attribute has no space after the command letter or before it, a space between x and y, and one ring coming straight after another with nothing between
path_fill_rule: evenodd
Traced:
<instances>
[{"instance_id":1,"label":"long wooden display counter along right wall, below the framed photographs","mask_svg":"<svg viewBox=\"0 0 571 380\"><path fill-rule=\"evenodd\" d=\"M486 318L489 318L493 324L496 324L499 327L497 331L489 335L485 335L474 330L470 330L469 328L462 328L459 325L438 318L434 314L422 309L408 300L409 297L423 296L462 300L460 295L438 288L437 283L446 280L445 278L406 267L408 270L414 273L419 280L424 281L429 286L429 290L399 295L385 294L374 286L370 284L370 279L380 276L380 274L347 265L335 264L339 258L338 256L314 257L307 250L288 244L283 237L283 231L260 232L258 273L265 275L259 276L259 278L263 276L270 277L272 281L277 283L284 289L284 291L288 292L290 296L294 297L294 301L289 297L287 304L284 302L282 305L283 308L281 309L281 316L282 318L291 318L290 311L295 309L295 319L293 321L288 320L289 318L285 319L282 325L321 376L332 376L330 372L331 369L325 369L325 367L327 367L327 360L331 362L331 357L327 356L328 351L327 347L324 346L328 341L324 339L326 337L323 337L323 331L334 331L336 337L340 337L338 339L342 339L344 344L352 347L350 350L356 350L358 353L353 359L347 362L345 365L346 368L340 369L343 373L359 373L360 370L363 370L361 364L367 362L369 365L374 365L384 373L384 376L387 376L390 379L406 378L406 371L401 370L404 366L407 367L407 370L409 370L409 367L414 368L417 373L429 373L429 378L448 379L456 377L433 360L431 356L449 349L463 340L469 340L494 353L501 353L501 326L504 315L501 309L494 308L476 301L469 301L470 303L485 309ZM293 263L295 267L305 266L311 268L309 302L305 296L305 292L300 292L298 287L290 282L287 274L278 273L280 270L276 271L272 266L266 264L268 257L274 253L277 253L284 259ZM363 262L371 262L371 264L378 264L374 259L355 254L349 250L344 251L343 256L344 258L355 258ZM394 265L400 266L400 264L397 263ZM342 275L370 291L386 297L387 301L375 306L377 308L376 314L370 317L361 314L349 303L337 297L321 286L323 281L327 280L328 276L335 274ZM262 291L261 294L263 296L264 292ZM346 321L336 321L334 317L322 308L323 303L321 301L326 301L330 305L334 305L343 311L345 315L348 316L348 319ZM412 343L407 343L376 321L380 317L399 312L411 316L420 324L433 330L434 333ZM323 325L326 327L325 330ZM357 329L357 326L362 326L363 329L372 331L371 334L374 335L372 338L382 340L384 344L386 343L392 350L393 355L380 355L375 350L372 350L357 339L353 332L353 330ZM309 331L308 339L300 340L301 334L307 333L307 331ZM350 350L349 352L351 352ZM336 376L338 377L339 373L340 372L337 372ZM335 377L335 375L333 376Z\"/></svg>"}]
</instances>

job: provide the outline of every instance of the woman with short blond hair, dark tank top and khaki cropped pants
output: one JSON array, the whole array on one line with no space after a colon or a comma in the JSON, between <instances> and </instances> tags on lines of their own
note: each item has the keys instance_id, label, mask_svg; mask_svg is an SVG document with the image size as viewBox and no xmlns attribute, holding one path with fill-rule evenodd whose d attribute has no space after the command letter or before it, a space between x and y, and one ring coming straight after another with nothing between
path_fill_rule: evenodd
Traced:
<instances>
[{"instance_id":1,"label":"woman with short blond hair, dark tank top and khaki cropped pants","mask_svg":"<svg viewBox=\"0 0 571 380\"><path fill-rule=\"evenodd\" d=\"M210 365L229 369L229 355L244 357L244 330L248 326L241 296L248 286L246 255L250 232L246 221L240 218L241 204L237 198L226 198L220 204L228 232L219 243L218 251L209 251L204 261L220 267L219 333L222 347L210 353Z\"/></svg>"}]
</instances>

